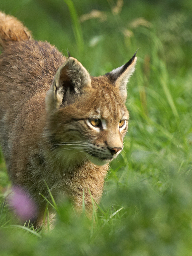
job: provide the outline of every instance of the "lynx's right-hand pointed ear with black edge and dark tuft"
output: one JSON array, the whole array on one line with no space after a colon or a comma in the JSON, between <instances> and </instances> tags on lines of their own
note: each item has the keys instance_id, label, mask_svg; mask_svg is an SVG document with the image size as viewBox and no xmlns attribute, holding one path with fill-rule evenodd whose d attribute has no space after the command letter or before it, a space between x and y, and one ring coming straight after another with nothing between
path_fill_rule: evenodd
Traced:
<instances>
[{"instance_id":1,"label":"lynx's right-hand pointed ear with black edge and dark tuft","mask_svg":"<svg viewBox=\"0 0 192 256\"><path fill-rule=\"evenodd\" d=\"M116 68L106 74L109 76L110 80L115 84L115 86L119 87L120 94L125 100L127 97L126 85L130 76L133 74L135 70L135 64L137 61L137 57L135 57L136 53L125 65Z\"/></svg>"}]
</instances>

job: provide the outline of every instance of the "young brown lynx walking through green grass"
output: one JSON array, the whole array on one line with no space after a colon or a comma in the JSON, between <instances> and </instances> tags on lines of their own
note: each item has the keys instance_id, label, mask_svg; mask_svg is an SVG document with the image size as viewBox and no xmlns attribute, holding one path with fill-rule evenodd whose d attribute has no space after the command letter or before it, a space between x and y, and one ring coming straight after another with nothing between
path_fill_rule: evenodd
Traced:
<instances>
[{"instance_id":1,"label":"young brown lynx walking through green grass","mask_svg":"<svg viewBox=\"0 0 192 256\"><path fill-rule=\"evenodd\" d=\"M109 162L123 149L126 84L136 53L93 77L2 12L0 45L0 142L13 186L35 202L34 226L43 225L47 186L55 200L69 197L77 212L84 194L91 215L91 196L98 204Z\"/></svg>"}]
</instances>

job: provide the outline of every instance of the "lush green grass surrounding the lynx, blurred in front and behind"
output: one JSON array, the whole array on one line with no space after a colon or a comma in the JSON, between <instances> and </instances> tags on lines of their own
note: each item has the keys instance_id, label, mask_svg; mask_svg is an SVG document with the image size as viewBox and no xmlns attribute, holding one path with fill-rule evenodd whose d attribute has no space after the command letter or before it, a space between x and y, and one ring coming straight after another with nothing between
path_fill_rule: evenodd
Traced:
<instances>
[{"instance_id":1,"label":"lush green grass surrounding the lynx, blurred in front and behind","mask_svg":"<svg viewBox=\"0 0 192 256\"><path fill-rule=\"evenodd\" d=\"M53 230L19 226L4 204L9 181L1 154L1 256L192 255L192 4L124 1L114 14L115 3L1 1L35 39L69 50L91 75L121 66L139 48L124 151L111 163L95 223L76 216L70 202L53 201ZM105 12L105 20L79 23L93 9Z\"/></svg>"}]
</instances>

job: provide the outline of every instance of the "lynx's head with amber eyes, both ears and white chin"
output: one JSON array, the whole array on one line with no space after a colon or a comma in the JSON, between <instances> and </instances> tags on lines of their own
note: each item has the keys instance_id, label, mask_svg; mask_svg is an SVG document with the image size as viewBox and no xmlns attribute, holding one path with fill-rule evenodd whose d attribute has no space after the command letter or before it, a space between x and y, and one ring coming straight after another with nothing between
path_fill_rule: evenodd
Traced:
<instances>
[{"instance_id":1,"label":"lynx's head with amber eyes, both ears and white chin","mask_svg":"<svg viewBox=\"0 0 192 256\"><path fill-rule=\"evenodd\" d=\"M59 67L46 96L47 134L57 156L104 165L122 151L129 119L126 84L135 55L100 77L91 77L73 57Z\"/></svg>"}]
</instances>

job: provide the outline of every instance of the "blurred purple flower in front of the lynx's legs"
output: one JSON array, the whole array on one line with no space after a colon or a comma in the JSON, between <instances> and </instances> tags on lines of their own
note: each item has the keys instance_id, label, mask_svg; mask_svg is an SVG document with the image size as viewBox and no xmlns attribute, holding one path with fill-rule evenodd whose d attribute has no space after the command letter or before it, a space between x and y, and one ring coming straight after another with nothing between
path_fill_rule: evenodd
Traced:
<instances>
[{"instance_id":1,"label":"blurred purple flower in front of the lynx's legs","mask_svg":"<svg viewBox=\"0 0 192 256\"><path fill-rule=\"evenodd\" d=\"M37 206L24 189L19 186L13 186L7 199L10 207L22 221L29 221L29 219L33 221L36 219Z\"/></svg>"}]
</instances>

